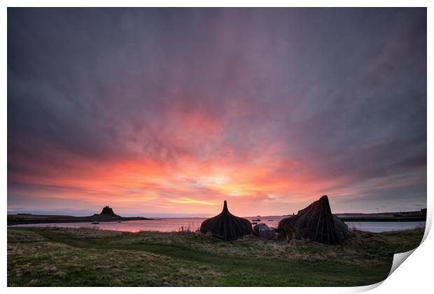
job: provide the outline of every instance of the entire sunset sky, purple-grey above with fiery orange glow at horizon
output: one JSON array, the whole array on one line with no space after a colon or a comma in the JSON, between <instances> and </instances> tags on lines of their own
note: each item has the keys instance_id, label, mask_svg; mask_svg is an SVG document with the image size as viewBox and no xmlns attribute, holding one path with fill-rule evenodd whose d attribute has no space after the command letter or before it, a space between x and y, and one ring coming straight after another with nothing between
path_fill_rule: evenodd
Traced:
<instances>
[{"instance_id":1,"label":"entire sunset sky, purple-grey above with fiery orange glow at horizon","mask_svg":"<svg viewBox=\"0 0 434 294\"><path fill-rule=\"evenodd\" d=\"M8 8L8 212L426 207L426 8Z\"/></svg>"}]
</instances>

